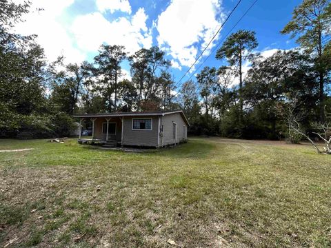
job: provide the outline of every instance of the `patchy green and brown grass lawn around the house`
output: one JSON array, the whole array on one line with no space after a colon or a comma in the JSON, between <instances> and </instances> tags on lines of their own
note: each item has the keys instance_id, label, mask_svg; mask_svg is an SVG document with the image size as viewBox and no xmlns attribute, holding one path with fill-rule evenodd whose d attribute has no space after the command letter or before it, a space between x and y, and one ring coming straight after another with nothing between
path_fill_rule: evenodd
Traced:
<instances>
[{"instance_id":1,"label":"patchy green and brown grass lawn around the house","mask_svg":"<svg viewBox=\"0 0 331 248\"><path fill-rule=\"evenodd\" d=\"M0 246L330 247L331 156L191 138L141 154L1 140Z\"/></svg>"}]
</instances>

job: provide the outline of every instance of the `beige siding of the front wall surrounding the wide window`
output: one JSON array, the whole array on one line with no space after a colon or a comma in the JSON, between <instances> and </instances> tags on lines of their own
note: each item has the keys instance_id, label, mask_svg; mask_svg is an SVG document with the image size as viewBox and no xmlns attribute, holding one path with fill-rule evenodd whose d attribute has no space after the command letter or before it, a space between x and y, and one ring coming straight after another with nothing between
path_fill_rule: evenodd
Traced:
<instances>
[{"instance_id":1,"label":"beige siding of the front wall surrounding the wide window","mask_svg":"<svg viewBox=\"0 0 331 248\"><path fill-rule=\"evenodd\" d=\"M132 130L133 118L152 118L152 130ZM157 147L159 116L125 116L123 121L123 145Z\"/></svg>"}]
</instances>

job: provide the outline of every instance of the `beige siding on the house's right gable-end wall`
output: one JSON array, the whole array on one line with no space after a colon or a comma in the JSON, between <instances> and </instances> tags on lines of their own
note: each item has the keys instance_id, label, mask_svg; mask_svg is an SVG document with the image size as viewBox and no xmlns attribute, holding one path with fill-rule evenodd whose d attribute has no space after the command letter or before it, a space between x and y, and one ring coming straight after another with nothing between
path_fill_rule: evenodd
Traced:
<instances>
[{"instance_id":1,"label":"beige siding on the house's right gable-end wall","mask_svg":"<svg viewBox=\"0 0 331 248\"><path fill-rule=\"evenodd\" d=\"M162 116L161 118L161 125L163 125L163 137L161 138L160 145L171 145L174 143L179 143L181 141L185 140L185 137L187 137L187 134L184 136L183 129L184 125L187 127L185 121L183 120L183 117L181 114L167 114L165 116ZM172 138L172 124L177 124L177 139L174 140ZM185 130L187 132L187 128Z\"/></svg>"}]
</instances>

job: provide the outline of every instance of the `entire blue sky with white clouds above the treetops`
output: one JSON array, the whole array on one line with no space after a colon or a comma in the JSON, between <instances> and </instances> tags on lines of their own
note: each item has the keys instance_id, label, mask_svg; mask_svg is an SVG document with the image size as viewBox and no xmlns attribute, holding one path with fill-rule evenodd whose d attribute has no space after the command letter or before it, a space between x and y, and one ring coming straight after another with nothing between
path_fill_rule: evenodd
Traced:
<instances>
[{"instance_id":1,"label":"entire blue sky with white clouds above the treetops","mask_svg":"<svg viewBox=\"0 0 331 248\"><path fill-rule=\"evenodd\" d=\"M253 1L241 1L212 47ZM295 41L279 31L290 21L299 3L259 0L235 30L254 30L259 41L257 52L265 56L278 49L294 48ZM63 54L68 63L92 61L101 43L125 45L129 54L158 45L172 61L172 74L178 80L236 4L234 0L34 0L32 10L44 11L28 14L26 22L17 25L17 32L38 34L38 42L50 61ZM207 50L205 56L209 53ZM224 63L212 54L204 65L218 67ZM128 63L123 64L123 69L130 78Z\"/></svg>"}]
</instances>

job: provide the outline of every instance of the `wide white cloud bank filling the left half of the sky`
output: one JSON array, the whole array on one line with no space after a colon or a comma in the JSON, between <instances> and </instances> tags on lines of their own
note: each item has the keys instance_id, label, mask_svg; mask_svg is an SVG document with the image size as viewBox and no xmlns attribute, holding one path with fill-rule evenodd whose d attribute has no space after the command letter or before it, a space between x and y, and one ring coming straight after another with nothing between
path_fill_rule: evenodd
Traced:
<instances>
[{"instance_id":1,"label":"wide white cloud bank filling the left half of the sky","mask_svg":"<svg viewBox=\"0 0 331 248\"><path fill-rule=\"evenodd\" d=\"M24 0L14 0L23 3ZM74 0L34 0L23 23L18 23L15 31L20 34L37 34L37 42L45 50L46 57L54 61L58 56L66 57L65 63L80 63L89 52L97 52L102 43L124 45L128 52L136 52L141 47L152 46L151 29L148 29L147 14L139 8L131 17L121 17L108 21L101 12L80 15L72 23L66 16L66 8ZM97 0L100 11L131 13L128 0ZM42 8L42 11L35 11Z\"/></svg>"}]
</instances>

